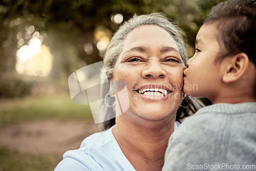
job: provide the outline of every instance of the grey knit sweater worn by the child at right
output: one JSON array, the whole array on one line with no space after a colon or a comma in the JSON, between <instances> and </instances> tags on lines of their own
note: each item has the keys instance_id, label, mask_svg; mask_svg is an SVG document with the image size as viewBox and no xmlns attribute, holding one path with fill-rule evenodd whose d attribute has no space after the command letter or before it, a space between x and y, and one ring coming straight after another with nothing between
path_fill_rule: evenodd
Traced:
<instances>
[{"instance_id":1,"label":"grey knit sweater worn by the child at right","mask_svg":"<svg viewBox=\"0 0 256 171\"><path fill-rule=\"evenodd\" d=\"M256 170L256 102L205 106L186 118L163 170Z\"/></svg>"}]
</instances>

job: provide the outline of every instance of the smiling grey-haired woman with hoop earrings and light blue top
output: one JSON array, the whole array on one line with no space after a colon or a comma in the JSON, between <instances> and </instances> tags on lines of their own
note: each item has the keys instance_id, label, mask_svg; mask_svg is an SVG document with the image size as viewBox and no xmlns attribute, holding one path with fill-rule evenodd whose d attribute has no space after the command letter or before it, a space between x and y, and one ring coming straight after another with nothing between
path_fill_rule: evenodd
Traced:
<instances>
[{"instance_id":1,"label":"smiling grey-haired woman with hoop earrings and light blue top","mask_svg":"<svg viewBox=\"0 0 256 171\"><path fill-rule=\"evenodd\" d=\"M115 123L105 124L110 129L66 152L55 170L162 170L176 120L200 107L195 101L181 107L190 104L182 95L186 58L180 30L162 14L135 15L124 23L103 63L110 82L125 83L129 109L117 111ZM108 114L116 106L107 106Z\"/></svg>"}]
</instances>

